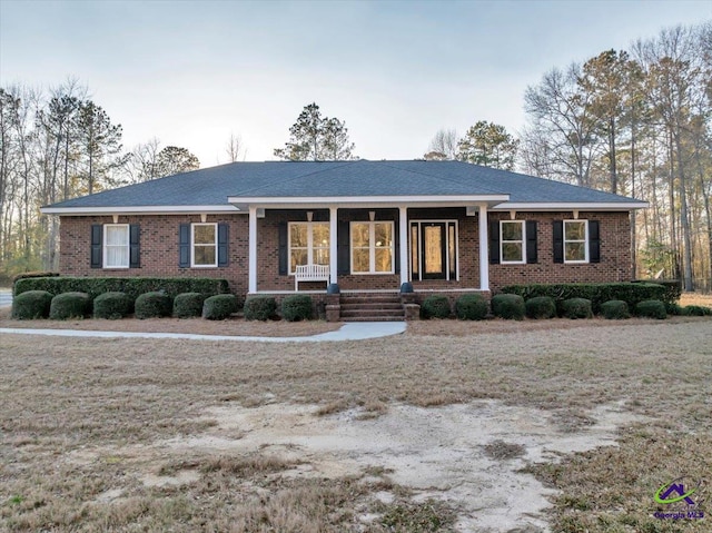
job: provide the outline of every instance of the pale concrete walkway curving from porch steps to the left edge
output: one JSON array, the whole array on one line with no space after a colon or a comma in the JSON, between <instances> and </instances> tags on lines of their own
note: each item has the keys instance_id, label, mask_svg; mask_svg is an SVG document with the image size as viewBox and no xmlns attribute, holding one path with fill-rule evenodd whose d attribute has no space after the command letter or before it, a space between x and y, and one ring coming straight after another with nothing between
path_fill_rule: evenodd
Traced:
<instances>
[{"instance_id":1,"label":"pale concrete walkway curving from porch steps to the left edge","mask_svg":"<svg viewBox=\"0 0 712 533\"><path fill-rule=\"evenodd\" d=\"M24 329L0 328L0 334L50 335L60 337L101 338L185 338L190 340L250 340L258 343L317 343L339 340L365 340L388 337L405 332L405 322L354 322L344 324L336 332L320 333L306 337L240 337L235 335L194 335L189 333L136 333L136 332L90 332L82 329Z\"/></svg>"}]
</instances>

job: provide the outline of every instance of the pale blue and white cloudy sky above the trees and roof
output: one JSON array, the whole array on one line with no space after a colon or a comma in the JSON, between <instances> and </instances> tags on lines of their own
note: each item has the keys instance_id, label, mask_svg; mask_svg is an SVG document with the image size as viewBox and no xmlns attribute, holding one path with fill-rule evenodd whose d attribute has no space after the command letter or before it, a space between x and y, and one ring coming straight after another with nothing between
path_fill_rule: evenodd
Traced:
<instances>
[{"instance_id":1,"label":"pale blue and white cloudy sky above the trees and roof","mask_svg":"<svg viewBox=\"0 0 712 533\"><path fill-rule=\"evenodd\" d=\"M0 87L77 79L131 149L152 138L273 160L301 109L346 122L355 155L422 157L438 129L512 134L552 68L712 20L712 0L0 0Z\"/></svg>"}]
</instances>

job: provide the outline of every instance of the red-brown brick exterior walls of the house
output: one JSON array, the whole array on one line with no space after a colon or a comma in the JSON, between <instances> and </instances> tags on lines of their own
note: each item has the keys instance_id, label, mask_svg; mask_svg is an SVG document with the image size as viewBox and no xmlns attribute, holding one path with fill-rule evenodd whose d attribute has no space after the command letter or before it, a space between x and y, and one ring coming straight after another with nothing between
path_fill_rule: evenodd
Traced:
<instances>
[{"instance_id":1,"label":"red-brown brick exterior walls of the house","mask_svg":"<svg viewBox=\"0 0 712 533\"><path fill-rule=\"evenodd\" d=\"M397 209L370 209L376 220L393 220L398 231ZM339 221L368 220L369 209L339 209ZM315 221L327 221L328 210L315 209ZM408 209L409 220L457 220L459 280L414 282L416 290L479 288L479 239L477 216L467 217L464 208ZM510 219L508 213L491 213L490 220ZM518 220L536 220L538 263L533 265L490 265L493 293L511 284L566 282L624 282L631 279L630 224L627 213L586 213L580 219L600 221L601 263L554 264L552 221L572 219L571 211L517 213ZM258 218L257 247L258 290L294 290L294 276L279 275L279 224L306 221L306 210L267 210ZM180 268L178 266L178 230L180 224L200 223L198 215L131 215L120 216L119 224L140 225L140 268L103 269L90 267L91 225L112 224L107 217L61 217L60 272L68 276L170 276L218 277L230 284L239 295L247 294L248 217L247 215L208 215L208 223L229 225L229 263L218 268ZM409 231L409 229L408 229ZM411 257L408 250L408 257ZM396 248L395 254L398 254ZM488 259L486 259L488 260ZM345 275L338 278L342 290L397 290L400 275ZM300 289L323 290L324 284L304 284Z\"/></svg>"}]
</instances>

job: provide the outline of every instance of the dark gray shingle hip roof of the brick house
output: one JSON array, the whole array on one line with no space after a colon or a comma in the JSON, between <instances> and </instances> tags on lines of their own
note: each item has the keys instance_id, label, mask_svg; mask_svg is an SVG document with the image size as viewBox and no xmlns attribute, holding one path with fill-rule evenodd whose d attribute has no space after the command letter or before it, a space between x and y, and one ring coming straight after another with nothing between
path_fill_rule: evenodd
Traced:
<instances>
[{"instance_id":1,"label":"dark gray shingle hip roof of the brick house","mask_svg":"<svg viewBox=\"0 0 712 533\"><path fill-rule=\"evenodd\" d=\"M235 162L50 206L228 206L228 197L333 198L510 195L514 204L631 204L623 196L458 161ZM641 203L641 206L643 204Z\"/></svg>"}]
</instances>

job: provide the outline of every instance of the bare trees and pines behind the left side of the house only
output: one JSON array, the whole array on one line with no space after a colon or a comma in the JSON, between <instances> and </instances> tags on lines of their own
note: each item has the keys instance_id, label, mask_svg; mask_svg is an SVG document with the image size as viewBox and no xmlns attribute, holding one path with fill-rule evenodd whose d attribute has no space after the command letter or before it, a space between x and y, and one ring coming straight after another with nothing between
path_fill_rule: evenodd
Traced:
<instances>
[{"instance_id":1,"label":"bare trees and pines behind the left side of the house only","mask_svg":"<svg viewBox=\"0 0 712 533\"><path fill-rule=\"evenodd\" d=\"M75 80L51 90L0 88L0 282L58 266L59 220L44 205L200 167L156 138L126 150L122 128ZM244 152L231 136L228 160Z\"/></svg>"}]
</instances>

